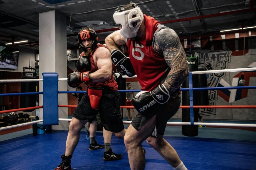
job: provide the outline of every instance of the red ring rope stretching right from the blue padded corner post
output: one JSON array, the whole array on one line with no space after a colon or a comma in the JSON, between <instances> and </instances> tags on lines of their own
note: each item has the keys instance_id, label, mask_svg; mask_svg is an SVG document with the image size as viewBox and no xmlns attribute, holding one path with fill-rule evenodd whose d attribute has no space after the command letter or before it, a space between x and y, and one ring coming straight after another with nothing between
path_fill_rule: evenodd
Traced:
<instances>
[{"instance_id":1,"label":"red ring rope stretching right from the blue padded corner post","mask_svg":"<svg viewBox=\"0 0 256 170\"><path fill-rule=\"evenodd\" d=\"M59 107L77 107L77 105L59 105ZM134 108L133 106L120 106L120 108ZM179 108L189 108L189 106L179 106ZM256 105L238 106L193 106L193 108L256 108Z\"/></svg>"}]
</instances>

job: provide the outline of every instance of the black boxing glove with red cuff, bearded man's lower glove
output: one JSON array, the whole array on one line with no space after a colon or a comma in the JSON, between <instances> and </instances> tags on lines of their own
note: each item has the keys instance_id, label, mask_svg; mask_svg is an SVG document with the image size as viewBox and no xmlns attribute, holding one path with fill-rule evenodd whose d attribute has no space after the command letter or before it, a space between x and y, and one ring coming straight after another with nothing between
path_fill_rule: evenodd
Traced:
<instances>
[{"instance_id":1,"label":"black boxing glove with red cuff, bearded man's lower glove","mask_svg":"<svg viewBox=\"0 0 256 170\"><path fill-rule=\"evenodd\" d=\"M90 81L89 74L91 72L74 72L68 75L68 85L69 87L78 87L81 83Z\"/></svg>"}]
</instances>

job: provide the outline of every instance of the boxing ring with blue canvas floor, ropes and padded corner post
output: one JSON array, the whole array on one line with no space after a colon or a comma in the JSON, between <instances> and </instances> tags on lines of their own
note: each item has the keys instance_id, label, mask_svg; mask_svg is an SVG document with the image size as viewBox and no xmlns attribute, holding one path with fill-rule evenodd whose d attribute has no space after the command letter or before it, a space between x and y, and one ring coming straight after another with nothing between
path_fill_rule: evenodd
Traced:
<instances>
[{"instance_id":1,"label":"boxing ring with blue canvas floor, ropes and padded corner post","mask_svg":"<svg viewBox=\"0 0 256 170\"><path fill-rule=\"evenodd\" d=\"M235 108L235 109L243 109L243 108L256 108L256 105L243 105L243 106L194 106L193 104L193 91L205 91L205 90L221 90L221 89L256 89L256 86L231 86L231 87L208 87L208 88L194 88L192 84L192 75L194 74L209 74L209 73L223 73L223 72L243 72L243 71L255 71L256 67L252 68L241 68L241 69L226 69L226 70L210 70L210 71L195 71L190 72L189 74L189 88L182 88L180 91L189 91L190 95L190 105L189 106L180 106L180 108L189 108L190 109L190 122L167 122L167 126L176 126L176 125L205 125L205 126L229 126L229 127L252 127L255 128L256 124L248 124L248 123L202 123L202 122L194 122L194 111L193 108ZM127 76L123 76L123 78L128 78ZM43 106L35 106L35 107L27 107L27 108L19 108L19 109L11 109L0 111L0 114L15 112L15 111L23 111L30 109L43 108L43 119L36 120L32 122L16 124L6 127L1 127L0 131L8 130L11 128L17 128L25 125L31 125L34 123L42 123L44 125L57 125L59 121L71 121L71 119L60 119L58 118L58 110L59 107L76 107L75 105L58 105L58 94L60 93L85 93L86 91L58 91L58 81L66 81L67 78L58 78L57 73L43 73L43 79L17 79L17 80L0 80L0 83L4 82L26 82L26 81L43 81L43 92L32 92L32 93L7 93L0 94L0 96L11 96L11 95L33 95L33 94L42 94L43 95ZM140 92L141 90L119 90L119 92ZM133 106L120 106L121 108L134 108ZM131 121L123 121L124 124L129 124ZM24 142L24 143L33 143L33 146L36 147L39 144L39 149L36 149L37 152L33 149L28 149L31 153L26 153L26 151L21 150L21 153L16 153L17 155L32 155L42 154L46 156L48 153L51 153L51 156L48 158L42 158L44 161L48 161L48 163L43 163L39 166L38 163L33 163L29 165L30 168L27 169L35 169L35 168L46 168L46 169L54 169L56 165L59 164L60 155L63 154L65 148L65 140L66 140L66 131L53 131L51 133L46 133L44 135L26 135L25 137L18 137L17 139L9 139L7 141L0 142L0 146L3 147L11 144L14 148L17 148L15 145ZM85 144L85 140L81 140L84 138L86 134L81 132L80 141L77 145L77 149L75 150L74 156L72 158L72 166L73 168L78 167L78 169L83 169L84 167L90 169L113 169L117 167L122 167L122 169L129 169L128 163L128 155L122 140L117 139L115 137L112 138L112 145L114 151L117 153L122 152L124 157L123 159L116 161L114 163L108 162L105 163L102 159L103 151L100 149L95 151L88 151L87 147L89 144ZM53 140L44 140L45 137L49 136L49 138ZM63 137L64 136L64 137ZM25 141L25 139L27 141ZM60 140L59 140L60 139ZM102 133L97 133L96 135L97 141L102 143L103 136ZM186 165L188 169L254 169L256 167L255 159L256 159L256 143L255 141L233 141L233 140L214 140L214 139L205 139L205 138L193 138L193 137L170 137L166 136L165 139L177 150L181 160ZM36 143L35 143L36 141ZM47 142L48 141L48 142ZM24 147L28 147L25 146ZM146 167L145 169L170 169L171 166L163 160L163 158L156 153L150 146L143 142L143 147L146 150ZM186 146L186 148L184 148ZM234 149L237 148L237 149ZM56 151L53 152L52 150ZM8 151L9 150L9 151ZM13 152L11 149L7 149L7 155L4 155L2 162L5 165L10 163L10 157ZM99 153L98 156L95 153ZM203 158L198 158L197 154L206 154ZM1 153L2 154L2 153ZM196 155L195 155L196 154ZM82 159L83 161L79 162L80 158L78 155L83 155L83 158L88 158L90 165L85 166L86 159ZM94 156L93 158L92 155ZM237 159L237 156L240 156L240 160ZM50 158L50 160L48 160ZM253 161L254 160L254 161ZM24 161L23 161L24 162ZM79 163L77 163L79 162ZM99 162L99 163L96 163ZM205 165L201 163L205 162ZM221 163L223 162L223 163ZM20 161L22 163L22 161ZM95 164L96 163L96 164ZM208 164L207 164L208 163ZM225 164L226 163L226 164ZM198 164L200 166L198 166ZM10 169L12 166L6 166L6 169ZM22 166L24 167L26 166ZM14 169L19 169L18 165L15 165ZM1 168L1 169L5 169ZM119 169L119 168L118 168Z\"/></svg>"}]
</instances>

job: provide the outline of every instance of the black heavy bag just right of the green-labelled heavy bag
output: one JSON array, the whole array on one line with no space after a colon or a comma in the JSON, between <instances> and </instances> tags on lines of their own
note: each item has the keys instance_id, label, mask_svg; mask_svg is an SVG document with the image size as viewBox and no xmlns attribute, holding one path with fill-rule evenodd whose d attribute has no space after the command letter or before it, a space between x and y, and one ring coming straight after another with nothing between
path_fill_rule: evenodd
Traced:
<instances>
[{"instance_id":1,"label":"black heavy bag just right of the green-labelled heavy bag","mask_svg":"<svg viewBox=\"0 0 256 170\"><path fill-rule=\"evenodd\" d=\"M199 67L198 71L205 71L204 67ZM207 75L206 74L198 74L198 87L204 87L207 88ZM198 91L198 95L200 96L200 99L198 101L198 105L200 106L209 106L209 97L208 97L208 91L202 90Z\"/></svg>"}]
</instances>

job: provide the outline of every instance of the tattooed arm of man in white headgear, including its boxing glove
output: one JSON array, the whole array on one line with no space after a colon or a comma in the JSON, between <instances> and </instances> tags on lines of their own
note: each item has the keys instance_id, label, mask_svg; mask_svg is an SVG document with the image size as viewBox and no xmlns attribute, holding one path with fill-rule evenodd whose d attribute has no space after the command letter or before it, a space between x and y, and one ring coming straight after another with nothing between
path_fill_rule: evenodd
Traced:
<instances>
[{"instance_id":1,"label":"tattooed arm of man in white headgear, including its boxing glove","mask_svg":"<svg viewBox=\"0 0 256 170\"><path fill-rule=\"evenodd\" d=\"M162 29L155 34L155 49L163 51L163 56L171 68L163 84L151 92L139 92L132 99L135 109L144 116L154 116L161 104L169 101L170 93L179 88L189 75L186 54L179 37L172 29Z\"/></svg>"}]
</instances>

